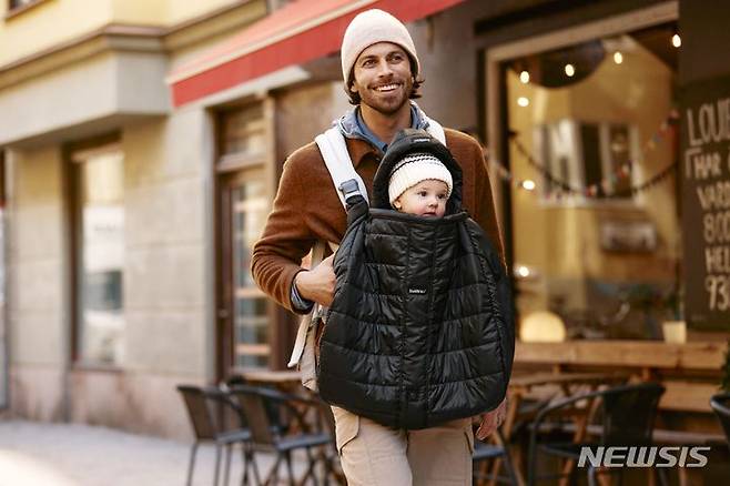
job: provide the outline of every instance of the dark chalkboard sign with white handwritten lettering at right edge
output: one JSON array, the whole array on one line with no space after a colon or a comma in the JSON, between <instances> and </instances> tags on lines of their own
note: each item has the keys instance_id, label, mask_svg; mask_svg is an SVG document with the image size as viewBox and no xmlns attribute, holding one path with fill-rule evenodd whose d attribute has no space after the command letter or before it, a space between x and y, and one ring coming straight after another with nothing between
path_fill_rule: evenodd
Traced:
<instances>
[{"instance_id":1,"label":"dark chalkboard sign with white handwritten lettering at right edge","mask_svg":"<svg viewBox=\"0 0 730 486\"><path fill-rule=\"evenodd\" d=\"M730 78L683 90L680 170L685 316L730 331Z\"/></svg>"}]
</instances>

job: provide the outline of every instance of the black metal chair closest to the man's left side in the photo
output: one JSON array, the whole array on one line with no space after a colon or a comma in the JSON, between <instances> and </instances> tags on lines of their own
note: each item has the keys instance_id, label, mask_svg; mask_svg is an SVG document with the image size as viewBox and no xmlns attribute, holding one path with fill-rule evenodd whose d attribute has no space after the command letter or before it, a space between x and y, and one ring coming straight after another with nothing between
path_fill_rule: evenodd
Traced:
<instances>
[{"instance_id":1,"label":"black metal chair closest to the man's left side in the photo","mask_svg":"<svg viewBox=\"0 0 730 486\"><path fill-rule=\"evenodd\" d=\"M252 449L276 454L274 466L264 480L265 485L278 483L282 460L286 463L291 485L304 484L307 478L318 484L315 467L320 460L325 468L323 483L328 484L329 476L335 476L333 456L336 453L327 417L331 411L324 402L250 385L233 386L230 393L249 417ZM273 409L278 409L278 413L273 414ZM313 455L314 448L320 454ZM302 449L308 464L304 476L297 482L292 453ZM255 468L255 458L253 464Z\"/></svg>"}]
</instances>

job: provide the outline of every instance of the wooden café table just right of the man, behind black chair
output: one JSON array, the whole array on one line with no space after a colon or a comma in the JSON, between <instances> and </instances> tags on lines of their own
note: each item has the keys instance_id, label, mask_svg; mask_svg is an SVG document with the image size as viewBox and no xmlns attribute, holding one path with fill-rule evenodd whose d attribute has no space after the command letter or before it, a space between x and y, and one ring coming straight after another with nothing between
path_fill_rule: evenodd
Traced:
<instances>
[{"instance_id":1,"label":"wooden caf\u00e9 table just right of the man, behind black chair","mask_svg":"<svg viewBox=\"0 0 730 486\"><path fill-rule=\"evenodd\" d=\"M619 384L628 379L627 374L622 373L533 373L526 375L513 376L509 382L508 399L507 399L507 413L505 416L505 422L503 424L503 436L509 439L513 428L517 419L529 419L531 415L537 413L535 411L531 414L520 415L519 407L525 398L530 397L534 389L540 386L552 386L559 391L559 393L554 393L551 399L570 396L576 392L576 388L582 388L584 392L594 392L601 385ZM544 397L543 397L544 398ZM550 398L549 398L550 399ZM585 421L587 417L577 418L581 423L576 424L576 433L574 435L574 441L579 441L585 434ZM496 434L494 435L495 441ZM500 444L504 447L508 447L508 444ZM520 455L515 455L514 465L515 465L515 475L517 477L517 484L523 486L525 484L525 478L520 472L521 457ZM496 474L499 472L501 462L499 458L495 459L493 464L493 477L496 477ZM567 463L564 470L572 467L572 464ZM490 485L496 484L493 479Z\"/></svg>"}]
</instances>

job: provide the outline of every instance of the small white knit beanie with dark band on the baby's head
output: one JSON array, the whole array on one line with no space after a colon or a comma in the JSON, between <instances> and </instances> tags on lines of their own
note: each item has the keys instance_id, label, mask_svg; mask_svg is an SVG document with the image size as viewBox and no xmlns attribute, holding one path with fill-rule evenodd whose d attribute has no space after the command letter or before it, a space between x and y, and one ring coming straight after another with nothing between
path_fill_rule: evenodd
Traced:
<instances>
[{"instance_id":1,"label":"small white knit beanie with dark band on the baby's head","mask_svg":"<svg viewBox=\"0 0 730 486\"><path fill-rule=\"evenodd\" d=\"M448 199L452 195L454 189L452 173L442 161L425 152L410 153L404 156L391 172L388 182L391 205L408 189L429 179L444 182L448 188L446 198Z\"/></svg>"}]
</instances>

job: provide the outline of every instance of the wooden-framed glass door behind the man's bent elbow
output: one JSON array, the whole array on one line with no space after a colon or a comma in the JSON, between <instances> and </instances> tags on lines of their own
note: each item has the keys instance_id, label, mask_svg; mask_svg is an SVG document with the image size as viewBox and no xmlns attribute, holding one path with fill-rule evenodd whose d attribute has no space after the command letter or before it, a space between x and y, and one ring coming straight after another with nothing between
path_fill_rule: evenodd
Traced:
<instances>
[{"instance_id":1,"label":"wooden-framed glass door behind the man's bent elbow","mask_svg":"<svg viewBox=\"0 0 730 486\"><path fill-rule=\"evenodd\" d=\"M251 252L268 213L270 124L264 104L217 113L219 377L272 366L274 305L251 274Z\"/></svg>"}]
</instances>

